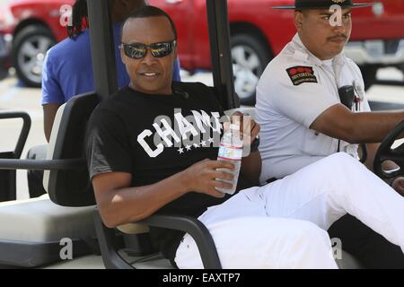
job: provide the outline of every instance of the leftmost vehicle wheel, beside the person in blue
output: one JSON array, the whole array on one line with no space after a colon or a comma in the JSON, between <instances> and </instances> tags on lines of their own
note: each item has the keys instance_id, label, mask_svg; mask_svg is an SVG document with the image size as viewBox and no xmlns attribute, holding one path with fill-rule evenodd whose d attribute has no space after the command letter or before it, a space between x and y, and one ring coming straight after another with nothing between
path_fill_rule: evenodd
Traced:
<instances>
[{"instance_id":1,"label":"leftmost vehicle wheel, beside the person in blue","mask_svg":"<svg viewBox=\"0 0 404 287\"><path fill-rule=\"evenodd\" d=\"M46 53L55 44L52 32L43 26L29 26L16 35L13 42L13 65L25 85L40 87Z\"/></svg>"}]
</instances>

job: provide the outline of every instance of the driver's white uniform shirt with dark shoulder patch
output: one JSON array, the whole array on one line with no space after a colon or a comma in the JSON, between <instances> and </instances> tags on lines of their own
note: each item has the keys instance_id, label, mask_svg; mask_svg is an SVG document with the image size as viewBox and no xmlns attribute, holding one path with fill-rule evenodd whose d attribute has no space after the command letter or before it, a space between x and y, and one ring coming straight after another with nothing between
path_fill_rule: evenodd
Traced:
<instances>
[{"instance_id":1,"label":"driver's white uniform shirt with dark shoulder patch","mask_svg":"<svg viewBox=\"0 0 404 287\"><path fill-rule=\"evenodd\" d=\"M370 111L359 67L343 53L321 61L296 34L269 63L257 87L261 182L284 178L338 152L338 139L309 127L326 109L340 103L338 88L345 85L355 85L356 96L361 99L358 111ZM341 141L340 151L357 157L357 145Z\"/></svg>"}]
</instances>

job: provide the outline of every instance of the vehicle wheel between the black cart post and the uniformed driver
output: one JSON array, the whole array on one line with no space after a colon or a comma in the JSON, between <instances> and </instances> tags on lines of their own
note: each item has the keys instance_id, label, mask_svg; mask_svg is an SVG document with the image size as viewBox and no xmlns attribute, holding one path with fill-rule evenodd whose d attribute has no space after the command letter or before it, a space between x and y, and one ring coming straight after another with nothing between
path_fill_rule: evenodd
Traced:
<instances>
[{"instance_id":1,"label":"vehicle wheel between the black cart post and the uniformed driver","mask_svg":"<svg viewBox=\"0 0 404 287\"><path fill-rule=\"evenodd\" d=\"M267 45L257 37L236 34L231 38L234 87L244 105L255 104L259 77L272 58Z\"/></svg>"}]
</instances>

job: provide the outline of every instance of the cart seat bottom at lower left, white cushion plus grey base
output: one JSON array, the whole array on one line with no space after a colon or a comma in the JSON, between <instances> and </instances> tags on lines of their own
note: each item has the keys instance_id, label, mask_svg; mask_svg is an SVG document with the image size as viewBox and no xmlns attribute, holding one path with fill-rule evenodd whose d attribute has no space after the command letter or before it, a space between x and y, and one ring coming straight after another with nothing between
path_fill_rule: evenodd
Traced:
<instances>
[{"instance_id":1,"label":"cart seat bottom at lower left, white cushion plus grey base","mask_svg":"<svg viewBox=\"0 0 404 287\"><path fill-rule=\"evenodd\" d=\"M92 208L64 207L48 195L0 203L0 265L36 267L61 260L62 239L72 256L92 251Z\"/></svg>"}]
</instances>

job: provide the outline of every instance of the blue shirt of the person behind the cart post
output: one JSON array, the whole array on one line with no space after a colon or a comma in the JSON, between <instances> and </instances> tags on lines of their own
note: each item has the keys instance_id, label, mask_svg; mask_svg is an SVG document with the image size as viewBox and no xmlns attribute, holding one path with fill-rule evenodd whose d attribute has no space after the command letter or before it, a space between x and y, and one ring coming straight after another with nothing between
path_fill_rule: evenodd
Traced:
<instances>
[{"instance_id":1,"label":"blue shirt of the person behind the cart post","mask_svg":"<svg viewBox=\"0 0 404 287\"><path fill-rule=\"evenodd\" d=\"M118 86L122 88L130 79L120 58L120 27L121 23L114 25L113 35ZM83 30L76 39L64 39L48 50L42 71L42 105L63 104L76 95L95 90L91 55L89 30ZM180 81L178 59L173 81Z\"/></svg>"}]
</instances>

